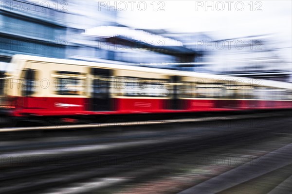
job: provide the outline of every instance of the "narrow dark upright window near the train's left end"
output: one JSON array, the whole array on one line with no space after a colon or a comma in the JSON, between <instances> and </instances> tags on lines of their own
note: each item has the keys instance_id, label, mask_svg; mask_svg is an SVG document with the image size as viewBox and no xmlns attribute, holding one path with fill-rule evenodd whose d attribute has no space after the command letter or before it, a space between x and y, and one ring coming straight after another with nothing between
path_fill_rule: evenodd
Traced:
<instances>
[{"instance_id":1,"label":"narrow dark upright window near the train's left end","mask_svg":"<svg viewBox=\"0 0 292 194\"><path fill-rule=\"evenodd\" d=\"M36 93L36 76L37 71L35 69L24 69L22 73L21 92L22 96L31 96Z\"/></svg>"}]
</instances>

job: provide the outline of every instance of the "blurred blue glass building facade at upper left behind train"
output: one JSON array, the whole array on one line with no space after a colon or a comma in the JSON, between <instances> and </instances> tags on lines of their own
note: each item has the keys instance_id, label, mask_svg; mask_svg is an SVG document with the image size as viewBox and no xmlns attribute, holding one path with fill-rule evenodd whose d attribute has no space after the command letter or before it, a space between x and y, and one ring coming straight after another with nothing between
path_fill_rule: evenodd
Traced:
<instances>
[{"instance_id":1,"label":"blurred blue glass building facade at upper left behind train","mask_svg":"<svg viewBox=\"0 0 292 194\"><path fill-rule=\"evenodd\" d=\"M97 6L96 1L1 1L0 61L14 54L107 59L110 51L82 34L92 26L115 24L116 13L96 11Z\"/></svg>"}]
</instances>

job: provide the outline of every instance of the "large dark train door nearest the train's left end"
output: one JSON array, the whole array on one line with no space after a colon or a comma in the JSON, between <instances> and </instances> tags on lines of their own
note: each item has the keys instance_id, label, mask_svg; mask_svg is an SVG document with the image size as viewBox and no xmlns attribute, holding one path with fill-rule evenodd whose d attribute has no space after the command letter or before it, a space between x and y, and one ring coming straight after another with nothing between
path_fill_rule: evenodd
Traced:
<instances>
[{"instance_id":1,"label":"large dark train door nearest the train's left end","mask_svg":"<svg viewBox=\"0 0 292 194\"><path fill-rule=\"evenodd\" d=\"M91 99L89 110L110 111L110 69L91 68Z\"/></svg>"}]
</instances>

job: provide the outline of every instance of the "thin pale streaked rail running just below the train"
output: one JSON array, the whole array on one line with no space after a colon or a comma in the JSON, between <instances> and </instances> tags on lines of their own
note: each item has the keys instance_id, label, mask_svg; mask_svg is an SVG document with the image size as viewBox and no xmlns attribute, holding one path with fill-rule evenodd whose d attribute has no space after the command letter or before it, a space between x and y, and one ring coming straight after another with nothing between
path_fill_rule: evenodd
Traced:
<instances>
[{"instance_id":1,"label":"thin pale streaked rail running just below the train","mask_svg":"<svg viewBox=\"0 0 292 194\"><path fill-rule=\"evenodd\" d=\"M189 123L189 122L208 122L214 120L235 120L235 119L246 119L246 118L261 118L261 117L273 117L281 116L285 113L291 114L291 111L282 110L273 113L271 111L267 112L226 112L219 115L219 113L201 113L201 114L173 114L170 116L147 116L145 120L129 119L129 118L118 118L110 121L100 122L100 123L88 123L88 124L56 124L51 126L37 126L37 127L10 127L10 128L0 128L0 132L15 132L15 131L32 131L32 130L66 130L66 129L96 129L96 128L110 128L110 127L123 127L123 126L139 126L139 125L159 125L159 124L172 124L172 123ZM179 115L179 116L178 116ZM208 116L206 116L208 115ZM148 119L147 119L148 118ZM158 119L157 119L158 118ZM115 122L115 120L127 120L126 122Z\"/></svg>"}]
</instances>

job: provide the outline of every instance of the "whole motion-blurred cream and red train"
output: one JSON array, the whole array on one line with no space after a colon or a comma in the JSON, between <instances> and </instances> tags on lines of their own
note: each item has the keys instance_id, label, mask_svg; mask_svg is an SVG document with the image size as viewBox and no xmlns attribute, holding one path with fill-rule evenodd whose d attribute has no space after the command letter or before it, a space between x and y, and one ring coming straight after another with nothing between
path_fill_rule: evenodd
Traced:
<instances>
[{"instance_id":1,"label":"whole motion-blurred cream and red train","mask_svg":"<svg viewBox=\"0 0 292 194\"><path fill-rule=\"evenodd\" d=\"M101 114L291 109L291 83L14 55L1 114L77 119Z\"/></svg>"}]
</instances>

